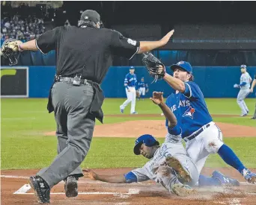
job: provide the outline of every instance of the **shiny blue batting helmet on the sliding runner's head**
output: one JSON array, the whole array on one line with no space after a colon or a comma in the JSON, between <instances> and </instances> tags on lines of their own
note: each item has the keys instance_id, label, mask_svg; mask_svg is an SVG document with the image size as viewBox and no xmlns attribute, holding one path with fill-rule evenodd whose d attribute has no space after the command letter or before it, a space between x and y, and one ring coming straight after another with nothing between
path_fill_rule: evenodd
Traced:
<instances>
[{"instance_id":1,"label":"shiny blue batting helmet on the sliding runner's head","mask_svg":"<svg viewBox=\"0 0 256 205\"><path fill-rule=\"evenodd\" d=\"M159 145L159 142L150 134L141 135L135 140L135 146L133 148L134 154L141 154L139 148L141 148L142 144L145 144L147 147L152 147L153 145Z\"/></svg>"}]
</instances>

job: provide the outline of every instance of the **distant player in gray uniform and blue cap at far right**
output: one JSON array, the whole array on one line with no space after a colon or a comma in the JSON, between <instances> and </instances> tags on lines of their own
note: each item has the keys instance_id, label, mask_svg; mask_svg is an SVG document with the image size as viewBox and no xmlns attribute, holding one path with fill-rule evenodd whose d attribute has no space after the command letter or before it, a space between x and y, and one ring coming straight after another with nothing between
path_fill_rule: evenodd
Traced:
<instances>
[{"instance_id":1,"label":"distant player in gray uniform and blue cap at far right","mask_svg":"<svg viewBox=\"0 0 256 205\"><path fill-rule=\"evenodd\" d=\"M241 116L247 116L249 113L249 109L246 106L246 102L244 101L247 95L250 93L250 83L252 82L252 78L248 72L246 72L246 65L241 65L242 75L240 77L240 84L234 84L234 88L240 88L240 92L237 95L237 104L241 108Z\"/></svg>"}]
</instances>

